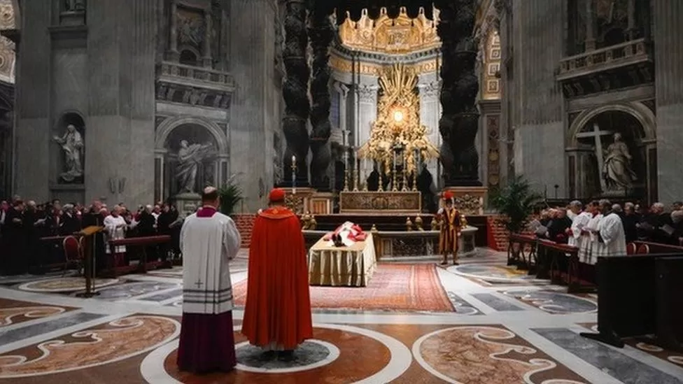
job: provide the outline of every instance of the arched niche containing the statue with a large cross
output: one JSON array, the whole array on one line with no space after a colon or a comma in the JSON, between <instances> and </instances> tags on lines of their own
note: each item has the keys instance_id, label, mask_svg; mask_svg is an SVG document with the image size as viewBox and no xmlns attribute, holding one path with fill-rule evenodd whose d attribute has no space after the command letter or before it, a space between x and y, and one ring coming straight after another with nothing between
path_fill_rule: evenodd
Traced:
<instances>
[{"instance_id":1,"label":"arched niche containing the statue with a large cross","mask_svg":"<svg viewBox=\"0 0 683 384\"><path fill-rule=\"evenodd\" d=\"M656 199L654 114L647 107L635 103L584 111L570 134L571 197Z\"/></svg>"}]
</instances>

